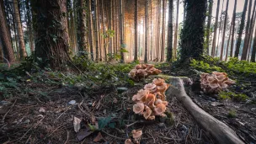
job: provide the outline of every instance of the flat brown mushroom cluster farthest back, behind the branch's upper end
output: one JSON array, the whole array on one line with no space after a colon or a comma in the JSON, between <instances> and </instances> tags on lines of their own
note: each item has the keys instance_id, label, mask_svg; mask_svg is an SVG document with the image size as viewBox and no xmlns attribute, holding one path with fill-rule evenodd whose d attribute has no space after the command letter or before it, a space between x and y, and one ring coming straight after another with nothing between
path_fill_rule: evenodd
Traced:
<instances>
[{"instance_id":1,"label":"flat brown mushroom cluster farthest back, behind the branch's upper end","mask_svg":"<svg viewBox=\"0 0 256 144\"><path fill-rule=\"evenodd\" d=\"M142 78L149 75L157 75L162 71L158 70L152 64L138 64L134 69L129 72L129 77L135 81L140 81Z\"/></svg>"}]
</instances>

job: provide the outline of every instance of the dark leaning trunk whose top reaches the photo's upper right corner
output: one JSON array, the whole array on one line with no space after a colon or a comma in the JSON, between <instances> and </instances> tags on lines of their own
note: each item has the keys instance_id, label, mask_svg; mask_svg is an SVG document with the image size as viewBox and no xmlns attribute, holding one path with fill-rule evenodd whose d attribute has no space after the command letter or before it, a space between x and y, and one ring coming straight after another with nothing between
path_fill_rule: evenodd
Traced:
<instances>
[{"instance_id":1,"label":"dark leaning trunk whose top reaches the photo's upper right corner","mask_svg":"<svg viewBox=\"0 0 256 144\"><path fill-rule=\"evenodd\" d=\"M241 60L246 60L247 53L248 53L248 42L249 42L249 35L250 35L249 29L251 29L250 23L251 23L252 3L253 3L253 0L249 0L248 18L247 18L247 24L245 29L245 38L244 38L243 53L242 53Z\"/></svg>"}]
</instances>

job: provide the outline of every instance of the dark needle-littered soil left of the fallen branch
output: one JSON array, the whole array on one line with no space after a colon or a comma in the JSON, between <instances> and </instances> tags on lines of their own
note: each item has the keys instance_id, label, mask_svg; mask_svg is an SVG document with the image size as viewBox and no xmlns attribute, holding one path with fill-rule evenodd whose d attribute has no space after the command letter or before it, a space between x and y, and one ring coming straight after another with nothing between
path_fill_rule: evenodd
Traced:
<instances>
[{"instance_id":1,"label":"dark needle-littered soil left of the fallen branch","mask_svg":"<svg viewBox=\"0 0 256 144\"><path fill-rule=\"evenodd\" d=\"M114 87L88 90L47 83L21 83L21 88L40 94L33 91L22 94L10 89L13 97L3 99L9 104L0 107L0 143L124 143L131 131L138 129L143 132L141 144L214 143L175 98L168 98L168 111L173 114L174 121L171 124L142 120L134 115L131 97L143 84L126 86L128 90L119 93ZM68 104L72 100L76 104ZM109 115L115 128L106 126L101 131L88 131L93 118L97 125ZM78 133L73 127L74 117L82 120ZM103 138L98 140L99 133Z\"/></svg>"}]
</instances>

